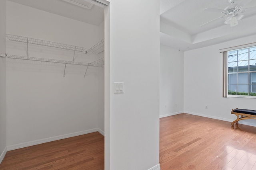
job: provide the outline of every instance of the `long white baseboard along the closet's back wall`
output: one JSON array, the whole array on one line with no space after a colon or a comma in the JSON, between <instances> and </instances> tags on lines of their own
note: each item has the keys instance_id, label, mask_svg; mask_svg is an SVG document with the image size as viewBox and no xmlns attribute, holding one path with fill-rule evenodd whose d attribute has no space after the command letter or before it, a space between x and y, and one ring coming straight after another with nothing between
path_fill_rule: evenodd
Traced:
<instances>
[{"instance_id":1,"label":"long white baseboard along the closet's back wall","mask_svg":"<svg viewBox=\"0 0 256 170\"><path fill-rule=\"evenodd\" d=\"M16 144L16 145L10 145L7 146L7 150L14 150L14 149L20 149L20 148L24 148L24 147L30 147L33 145L38 145L38 144L42 144L42 143L46 143L46 142L52 142L52 141L57 141L60 139L65 139L65 138L69 138L69 137L75 137L75 136L79 136L79 135L85 135L87 133L92 133L92 132L97 132L98 128L94 128L94 129L89 129L86 131L80 131L80 132L75 132L75 133L69 133L66 135L60 135L60 136L56 136L56 137L49 137L49 138L45 138L45 139L39 139L36 141L30 141L30 142L25 142L25 143L20 143L20 144Z\"/></svg>"}]
</instances>

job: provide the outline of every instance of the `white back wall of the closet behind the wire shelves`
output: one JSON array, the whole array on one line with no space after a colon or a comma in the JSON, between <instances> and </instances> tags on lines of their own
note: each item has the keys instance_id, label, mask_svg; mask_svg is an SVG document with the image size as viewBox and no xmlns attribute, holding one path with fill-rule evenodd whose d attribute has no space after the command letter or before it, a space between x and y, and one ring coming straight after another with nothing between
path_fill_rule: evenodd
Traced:
<instances>
[{"instance_id":1,"label":"white back wall of the closet behind the wire shelves","mask_svg":"<svg viewBox=\"0 0 256 170\"><path fill-rule=\"evenodd\" d=\"M87 48L102 38L97 26L9 1L7 33ZM26 43L7 41L7 51L26 56ZM72 61L73 54L29 45L30 57ZM75 55L75 61L96 59L93 54ZM63 77L64 64L7 60L8 149L97 131L99 98L104 98L103 92L98 94L99 86L102 89L98 74L103 68L89 67L84 78L85 70L86 66L67 64Z\"/></svg>"}]
</instances>

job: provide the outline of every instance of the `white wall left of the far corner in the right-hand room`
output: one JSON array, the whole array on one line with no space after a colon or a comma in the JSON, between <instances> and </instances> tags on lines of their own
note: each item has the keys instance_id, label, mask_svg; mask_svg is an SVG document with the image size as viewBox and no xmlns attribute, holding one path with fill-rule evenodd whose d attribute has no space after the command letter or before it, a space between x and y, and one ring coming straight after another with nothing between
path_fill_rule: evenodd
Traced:
<instances>
[{"instance_id":1,"label":"white wall left of the far corner in the right-hand room","mask_svg":"<svg viewBox=\"0 0 256 170\"><path fill-rule=\"evenodd\" d=\"M183 113L183 70L184 52L160 45L160 117Z\"/></svg>"}]
</instances>

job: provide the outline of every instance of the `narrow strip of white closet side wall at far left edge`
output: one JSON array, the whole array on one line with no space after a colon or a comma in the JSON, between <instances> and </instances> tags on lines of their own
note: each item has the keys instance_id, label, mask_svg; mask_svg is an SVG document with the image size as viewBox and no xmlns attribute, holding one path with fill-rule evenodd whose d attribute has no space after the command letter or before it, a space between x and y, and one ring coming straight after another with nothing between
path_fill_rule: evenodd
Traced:
<instances>
[{"instance_id":1,"label":"narrow strip of white closet side wall at far left edge","mask_svg":"<svg viewBox=\"0 0 256 170\"><path fill-rule=\"evenodd\" d=\"M0 1L0 53L6 52L6 0ZM0 58L0 164L6 154L6 58Z\"/></svg>"}]
</instances>

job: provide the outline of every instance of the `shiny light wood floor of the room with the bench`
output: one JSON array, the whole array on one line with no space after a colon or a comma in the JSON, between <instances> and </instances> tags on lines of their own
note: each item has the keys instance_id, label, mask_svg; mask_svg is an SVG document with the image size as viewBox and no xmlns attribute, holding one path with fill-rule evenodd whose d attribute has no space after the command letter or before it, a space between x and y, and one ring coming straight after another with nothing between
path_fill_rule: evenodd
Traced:
<instances>
[{"instance_id":1,"label":"shiny light wood floor of the room with the bench","mask_svg":"<svg viewBox=\"0 0 256 170\"><path fill-rule=\"evenodd\" d=\"M256 170L255 162L256 127L185 113L160 119L161 170Z\"/></svg>"}]
</instances>

